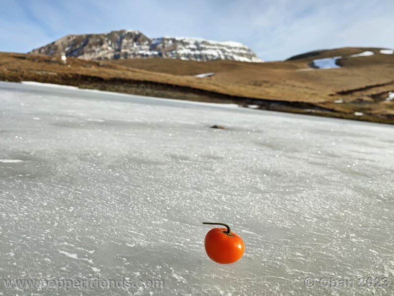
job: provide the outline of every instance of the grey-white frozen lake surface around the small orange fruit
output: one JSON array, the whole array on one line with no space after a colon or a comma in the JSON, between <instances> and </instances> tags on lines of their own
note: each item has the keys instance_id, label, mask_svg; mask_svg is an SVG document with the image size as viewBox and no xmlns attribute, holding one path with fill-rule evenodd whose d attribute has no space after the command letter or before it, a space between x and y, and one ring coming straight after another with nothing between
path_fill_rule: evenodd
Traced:
<instances>
[{"instance_id":1,"label":"grey-white frozen lake surface around the small orange fruit","mask_svg":"<svg viewBox=\"0 0 394 296\"><path fill-rule=\"evenodd\" d=\"M393 293L392 126L5 82L0 103L0 279L164 281L70 295ZM208 259L203 221L229 223L244 257ZM357 288L368 276L390 287Z\"/></svg>"}]
</instances>

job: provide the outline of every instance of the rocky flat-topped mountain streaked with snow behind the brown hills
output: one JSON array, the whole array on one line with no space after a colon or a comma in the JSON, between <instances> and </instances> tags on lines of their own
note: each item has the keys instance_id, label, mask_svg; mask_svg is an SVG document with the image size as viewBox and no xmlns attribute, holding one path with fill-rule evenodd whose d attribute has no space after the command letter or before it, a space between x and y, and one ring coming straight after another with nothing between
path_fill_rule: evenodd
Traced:
<instances>
[{"instance_id":1,"label":"rocky flat-topped mountain streaked with snow behind the brown hills","mask_svg":"<svg viewBox=\"0 0 394 296\"><path fill-rule=\"evenodd\" d=\"M150 38L139 31L128 30L67 35L31 52L94 60L159 57L193 61L263 62L249 47L239 42L189 37Z\"/></svg>"}]
</instances>

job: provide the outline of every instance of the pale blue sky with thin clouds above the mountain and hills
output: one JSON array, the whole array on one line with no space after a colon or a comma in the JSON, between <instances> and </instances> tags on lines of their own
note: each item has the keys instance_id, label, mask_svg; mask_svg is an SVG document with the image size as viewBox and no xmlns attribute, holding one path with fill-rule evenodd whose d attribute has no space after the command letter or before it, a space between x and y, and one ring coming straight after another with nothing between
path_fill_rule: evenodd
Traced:
<instances>
[{"instance_id":1,"label":"pale blue sky with thin clouds above the mountain and hills","mask_svg":"<svg viewBox=\"0 0 394 296\"><path fill-rule=\"evenodd\" d=\"M1 0L0 51L67 34L139 30L149 37L234 40L264 60L321 48L394 47L394 0Z\"/></svg>"}]
</instances>

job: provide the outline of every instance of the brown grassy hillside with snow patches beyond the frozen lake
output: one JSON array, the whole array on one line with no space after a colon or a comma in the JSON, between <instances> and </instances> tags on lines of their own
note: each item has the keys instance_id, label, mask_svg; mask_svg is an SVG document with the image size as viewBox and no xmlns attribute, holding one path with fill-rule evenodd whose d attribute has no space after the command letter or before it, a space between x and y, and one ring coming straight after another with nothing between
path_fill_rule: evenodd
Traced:
<instances>
[{"instance_id":1,"label":"brown grassy hillside with snow patches beyond the frozen lake","mask_svg":"<svg viewBox=\"0 0 394 296\"><path fill-rule=\"evenodd\" d=\"M350 57L365 50L373 56ZM378 48L316 51L283 62L171 59L86 61L0 53L1 80L34 80L178 99L261 105L263 109L394 123L394 55ZM342 56L340 69L310 70L313 59ZM214 72L205 78L195 74ZM341 99L343 104L335 104ZM276 103L275 103L276 102ZM354 112L363 112L355 116Z\"/></svg>"}]
</instances>

